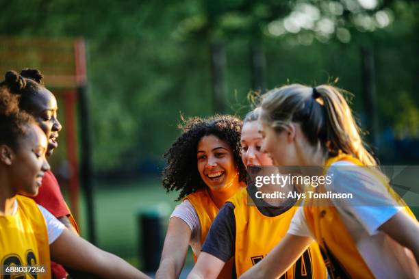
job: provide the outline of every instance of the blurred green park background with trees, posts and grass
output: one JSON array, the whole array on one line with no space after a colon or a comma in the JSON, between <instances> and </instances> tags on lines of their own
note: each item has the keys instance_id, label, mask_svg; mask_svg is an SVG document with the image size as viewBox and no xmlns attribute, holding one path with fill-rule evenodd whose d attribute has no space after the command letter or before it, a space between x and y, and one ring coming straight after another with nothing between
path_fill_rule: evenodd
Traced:
<instances>
[{"instance_id":1,"label":"blurred green park background with trees, posts and grass","mask_svg":"<svg viewBox=\"0 0 419 279\"><path fill-rule=\"evenodd\" d=\"M82 235L137 267L140 221L177 204L160 173L181 114L242 117L251 91L333 83L382 164L418 164L417 1L0 3L1 71L39 68L58 96L50 161Z\"/></svg>"}]
</instances>

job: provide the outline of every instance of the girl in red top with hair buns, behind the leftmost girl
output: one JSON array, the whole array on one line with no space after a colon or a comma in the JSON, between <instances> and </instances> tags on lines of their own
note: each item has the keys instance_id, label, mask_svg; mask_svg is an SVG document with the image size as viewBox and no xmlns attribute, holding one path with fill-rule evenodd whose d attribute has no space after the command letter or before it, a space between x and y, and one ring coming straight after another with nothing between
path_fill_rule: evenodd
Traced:
<instances>
[{"instance_id":1,"label":"girl in red top with hair buns, behind the leftmost girl","mask_svg":"<svg viewBox=\"0 0 419 279\"><path fill-rule=\"evenodd\" d=\"M57 118L57 101L55 96L45 88L43 76L39 70L25 68L20 74L10 70L5 73L5 79L0 83L18 96L19 107L31 114L48 138L47 157L53 154L58 146L58 133L62 126ZM62 196L60 185L51 170L45 172L42 187L38 196L32 197L36 203L45 207L62 222L66 228L79 234L79 228ZM66 270L52 263L53 278L65 278Z\"/></svg>"}]
</instances>

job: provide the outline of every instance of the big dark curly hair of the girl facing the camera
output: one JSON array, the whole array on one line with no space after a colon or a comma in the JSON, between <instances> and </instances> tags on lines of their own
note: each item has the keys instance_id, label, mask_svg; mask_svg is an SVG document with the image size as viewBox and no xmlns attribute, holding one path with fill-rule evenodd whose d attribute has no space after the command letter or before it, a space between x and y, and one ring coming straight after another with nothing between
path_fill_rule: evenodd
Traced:
<instances>
[{"instance_id":1,"label":"big dark curly hair of the girl facing the camera","mask_svg":"<svg viewBox=\"0 0 419 279\"><path fill-rule=\"evenodd\" d=\"M162 184L166 192L180 190L177 200L181 200L188 194L207 187L199 175L196 159L196 148L201 137L205 135L215 135L229 145L233 152L234 164L238 168L239 181L246 183L246 168L240 156L242 120L227 115L182 120L179 129L183 133L164 153L166 167L162 174Z\"/></svg>"}]
</instances>

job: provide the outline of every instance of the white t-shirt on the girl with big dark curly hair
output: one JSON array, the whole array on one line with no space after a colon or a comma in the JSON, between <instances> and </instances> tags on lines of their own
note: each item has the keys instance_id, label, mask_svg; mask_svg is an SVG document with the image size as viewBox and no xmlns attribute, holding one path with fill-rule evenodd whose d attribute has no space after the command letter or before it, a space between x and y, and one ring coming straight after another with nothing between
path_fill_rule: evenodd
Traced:
<instances>
[{"instance_id":1,"label":"white t-shirt on the girl with big dark curly hair","mask_svg":"<svg viewBox=\"0 0 419 279\"><path fill-rule=\"evenodd\" d=\"M189 245L196 256L201 252L201 224L199 223L199 217L196 213L194 206L189 200L183 200L181 204L177 205L173 210L170 218L177 217L188 224L192 235L190 237Z\"/></svg>"}]
</instances>

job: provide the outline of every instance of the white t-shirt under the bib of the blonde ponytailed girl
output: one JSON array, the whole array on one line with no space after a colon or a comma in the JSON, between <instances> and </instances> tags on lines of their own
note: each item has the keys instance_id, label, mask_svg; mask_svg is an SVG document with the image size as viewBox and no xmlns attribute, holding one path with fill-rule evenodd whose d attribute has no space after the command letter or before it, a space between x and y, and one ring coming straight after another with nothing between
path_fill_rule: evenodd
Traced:
<instances>
[{"instance_id":1,"label":"white t-shirt under the bib of the blonde ponytailed girl","mask_svg":"<svg viewBox=\"0 0 419 279\"><path fill-rule=\"evenodd\" d=\"M338 161L333 166L353 165L348 161ZM377 179L365 168L329 168L333 172L333 186L327 191L353 193L353 200L331 199L337 209L349 235L357 246L372 274L376 278L419 278L416 259L407 248L398 244L391 237L377 230L402 207L367 206L371 204L394 204L394 200L381 185L377 187ZM357 206L353 206L356 204ZM359 206L366 204L366 206ZM288 233L301 237L314 235L307 226L303 207L300 207L291 222Z\"/></svg>"}]
</instances>

